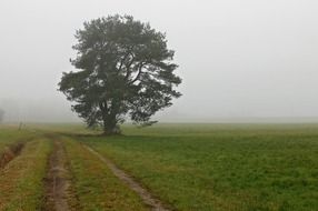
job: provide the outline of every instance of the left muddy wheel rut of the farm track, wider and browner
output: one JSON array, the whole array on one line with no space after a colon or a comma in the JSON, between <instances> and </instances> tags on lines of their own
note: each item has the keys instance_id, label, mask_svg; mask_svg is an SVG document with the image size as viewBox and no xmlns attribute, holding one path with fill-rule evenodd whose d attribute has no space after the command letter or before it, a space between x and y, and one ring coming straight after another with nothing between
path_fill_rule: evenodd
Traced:
<instances>
[{"instance_id":1,"label":"left muddy wheel rut of the farm track, wider and browner","mask_svg":"<svg viewBox=\"0 0 318 211\"><path fill-rule=\"evenodd\" d=\"M53 151L49 158L49 170L44 185L44 211L79 210L77 198L71 191L71 174L61 141L53 140Z\"/></svg>"}]
</instances>

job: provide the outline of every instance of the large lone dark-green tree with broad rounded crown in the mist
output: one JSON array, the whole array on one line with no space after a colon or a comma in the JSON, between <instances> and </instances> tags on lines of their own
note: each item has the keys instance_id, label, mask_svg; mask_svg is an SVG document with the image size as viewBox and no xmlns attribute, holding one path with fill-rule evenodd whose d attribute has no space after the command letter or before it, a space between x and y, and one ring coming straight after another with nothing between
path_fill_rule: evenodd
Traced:
<instances>
[{"instance_id":1,"label":"large lone dark-green tree with broad rounded crown in the mist","mask_svg":"<svg viewBox=\"0 0 318 211\"><path fill-rule=\"evenodd\" d=\"M175 90L181 83L175 51L149 23L109 16L85 22L76 38L77 57L70 61L78 71L64 72L59 90L88 127L113 134L128 118L150 125L151 115L181 96Z\"/></svg>"}]
</instances>

